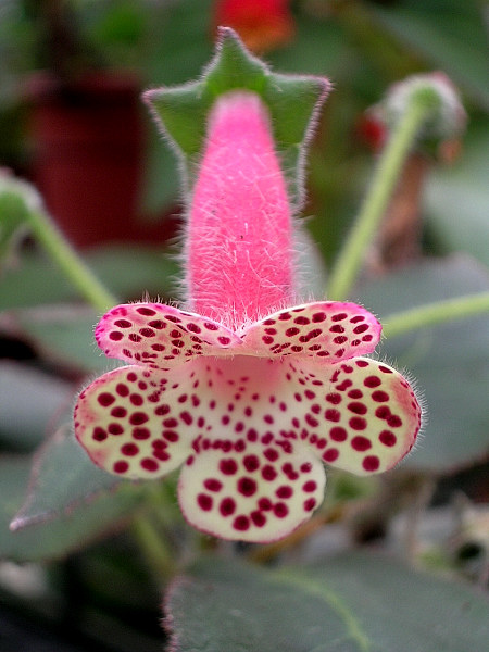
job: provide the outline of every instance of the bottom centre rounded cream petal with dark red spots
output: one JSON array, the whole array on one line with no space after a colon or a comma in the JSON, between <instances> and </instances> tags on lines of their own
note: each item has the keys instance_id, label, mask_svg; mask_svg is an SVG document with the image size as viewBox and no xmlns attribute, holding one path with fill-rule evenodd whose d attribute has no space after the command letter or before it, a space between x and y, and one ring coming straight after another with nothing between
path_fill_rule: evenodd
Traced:
<instances>
[{"instance_id":1,"label":"bottom centre rounded cream petal with dark red spots","mask_svg":"<svg viewBox=\"0 0 489 652\"><path fill-rule=\"evenodd\" d=\"M184 466L178 500L187 521L222 539L269 542L310 518L323 501L322 463L271 434L198 448Z\"/></svg>"}]
</instances>

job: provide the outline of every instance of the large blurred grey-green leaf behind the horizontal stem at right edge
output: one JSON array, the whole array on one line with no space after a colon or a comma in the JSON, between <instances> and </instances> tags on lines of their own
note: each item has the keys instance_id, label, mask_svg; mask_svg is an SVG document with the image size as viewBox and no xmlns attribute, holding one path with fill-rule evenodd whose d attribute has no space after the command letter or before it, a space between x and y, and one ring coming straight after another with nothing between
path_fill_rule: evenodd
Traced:
<instances>
[{"instance_id":1,"label":"large blurred grey-green leaf behind the horizontal stem at right edge","mask_svg":"<svg viewBox=\"0 0 489 652\"><path fill-rule=\"evenodd\" d=\"M488 272L464 256L427 260L355 293L383 317L432 301L487 291ZM380 358L405 365L427 408L427 426L405 464L443 471L489 453L489 319L459 319L388 338Z\"/></svg>"}]
</instances>

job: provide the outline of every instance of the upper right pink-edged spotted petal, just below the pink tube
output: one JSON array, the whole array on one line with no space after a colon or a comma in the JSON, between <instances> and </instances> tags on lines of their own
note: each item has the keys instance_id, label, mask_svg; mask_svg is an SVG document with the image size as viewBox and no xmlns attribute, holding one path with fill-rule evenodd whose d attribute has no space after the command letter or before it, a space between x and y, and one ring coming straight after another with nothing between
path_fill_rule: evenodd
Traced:
<instances>
[{"instance_id":1,"label":"upper right pink-edged spotted petal, just below the pink tube","mask_svg":"<svg viewBox=\"0 0 489 652\"><path fill-rule=\"evenodd\" d=\"M275 312L243 333L250 354L278 358L296 355L336 363L371 353L381 326L355 303L316 301Z\"/></svg>"}]
</instances>

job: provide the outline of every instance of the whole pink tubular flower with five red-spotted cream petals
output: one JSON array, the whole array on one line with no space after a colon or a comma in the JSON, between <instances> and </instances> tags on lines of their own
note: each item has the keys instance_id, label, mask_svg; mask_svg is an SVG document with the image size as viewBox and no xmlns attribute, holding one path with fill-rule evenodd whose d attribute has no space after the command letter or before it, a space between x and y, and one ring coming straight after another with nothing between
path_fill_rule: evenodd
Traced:
<instances>
[{"instance_id":1,"label":"whole pink tubular flower with five red-spotted cream petals","mask_svg":"<svg viewBox=\"0 0 489 652\"><path fill-rule=\"evenodd\" d=\"M188 212L188 305L117 305L96 328L127 366L82 391L75 432L125 478L181 466L178 500L198 529L280 539L325 488L324 462L369 475L412 448L408 380L365 358L381 326L348 302L294 303L293 225L258 95L214 103Z\"/></svg>"}]
</instances>

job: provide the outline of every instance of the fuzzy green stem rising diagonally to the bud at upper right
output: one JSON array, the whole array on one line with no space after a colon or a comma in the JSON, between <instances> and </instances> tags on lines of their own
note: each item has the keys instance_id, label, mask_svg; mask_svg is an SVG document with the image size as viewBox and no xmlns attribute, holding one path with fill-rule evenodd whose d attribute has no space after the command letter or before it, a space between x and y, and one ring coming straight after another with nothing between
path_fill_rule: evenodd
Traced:
<instances>
[{"instance_id":1,"label":"fuzzy green stem rising diagonally to the bud at upper right","mask_svg":"<svg viewBox=\"0 0 489 652\"><path fill-rule=\"evenodd\" d=\"M380 156L367 197L331 271L328 298L343 300L362 266L421 126L434 110L432 97L413 93Z\"/></svg>"}]
</instances>

